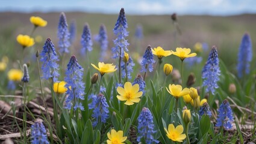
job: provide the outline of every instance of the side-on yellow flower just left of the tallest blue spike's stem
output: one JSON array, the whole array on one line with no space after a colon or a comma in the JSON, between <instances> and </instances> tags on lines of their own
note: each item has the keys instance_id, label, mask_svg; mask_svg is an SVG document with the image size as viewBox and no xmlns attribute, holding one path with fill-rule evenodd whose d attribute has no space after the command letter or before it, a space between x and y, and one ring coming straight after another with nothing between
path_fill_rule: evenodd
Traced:
<instances>
[{"instance_id":1,"label":"side-on yellow flower just left of the tallest blue spike's stem","mask_svg":"<svg viewBox=\"0 0 256 144\"><path fill-rule=\"evenodd\" d=\"M96 70L99 71L99 73L101 73L101 76L103 76L105 73L112 73L114 71L116 71L117 69L115 68L116 65L113 64L104 64L104 62L99 62L98 63L98 67L96 67L96 65L91 64Z\"/></svg>"}]
</instances>

